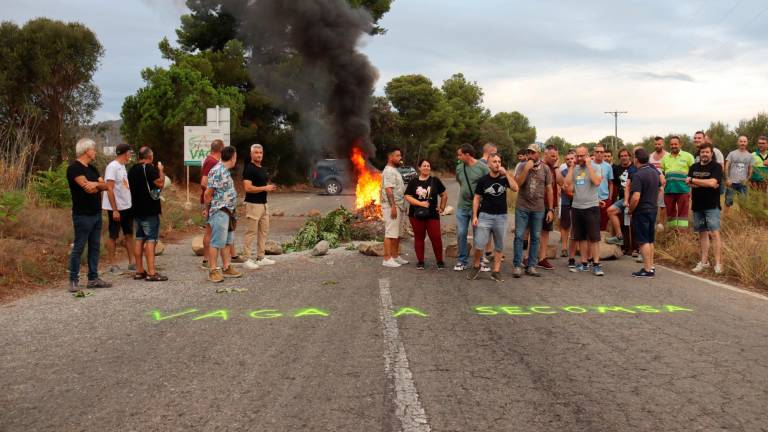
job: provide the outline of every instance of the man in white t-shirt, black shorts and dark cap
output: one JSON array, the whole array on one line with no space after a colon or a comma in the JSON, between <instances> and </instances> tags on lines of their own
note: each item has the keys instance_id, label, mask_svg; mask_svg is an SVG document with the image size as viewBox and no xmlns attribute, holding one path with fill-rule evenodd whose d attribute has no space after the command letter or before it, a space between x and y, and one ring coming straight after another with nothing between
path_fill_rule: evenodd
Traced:
<instances>
[{"instance_id":1,"label":"man in white t-shirt, black shorts and dark cap","mask_svg":"<svg viewBox=\"0 0 768 432\"><path fill-rule=\"evenodd\" d=\"M133 255L131 190L128 187L128 172L125 170L125 164L131 159L131 147L128 144L119 144L115 148L115 156L115 159L107 165L104 172L107 190L106 193L102 194L101 199L101 208L107 211L107 220L109 220L107 261L109 262L109 271L113 273L120 270L115 265L115 248L121 230L128 255L128 270L136 269Z\"/></svg>"}]
</instances>

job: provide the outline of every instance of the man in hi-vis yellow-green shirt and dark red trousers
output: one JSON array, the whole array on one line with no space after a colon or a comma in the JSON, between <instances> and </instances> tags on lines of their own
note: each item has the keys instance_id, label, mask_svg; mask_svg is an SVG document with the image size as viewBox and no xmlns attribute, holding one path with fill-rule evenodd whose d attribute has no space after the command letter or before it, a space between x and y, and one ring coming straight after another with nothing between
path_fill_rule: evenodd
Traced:
<instances>
[{"instance_id":1,"label":"man in hi-vis yellow-green shirt and dark red trousers","mask_svg":"<svg viewBox=\"0 0 768 432\"><path fill-rule=\"evenodd\" d=\"M670 153L661 160L661 170L667 179L664 187L664 205L670 228L688 228L688 211L691 207L691 188L686 184L688 170L694 164L693 155L683 151L680 138L669 139Z\"/></svg>"}]
</instances>

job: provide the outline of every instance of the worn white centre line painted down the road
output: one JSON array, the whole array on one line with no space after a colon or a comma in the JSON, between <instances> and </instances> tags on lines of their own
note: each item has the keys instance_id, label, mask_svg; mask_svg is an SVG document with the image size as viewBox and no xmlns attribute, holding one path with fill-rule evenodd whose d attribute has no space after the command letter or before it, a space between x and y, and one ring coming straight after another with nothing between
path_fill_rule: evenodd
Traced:
<instances>
[{"instance_id":1,"label":"worn white centre line painted down the road","mask_svg":"<svg viewBox=\"0 0 768 432\"><path fill-rule=\"evenodd\" d=\"M403 432L430 432L427 414L419 402L419 393L413 382L413 374L408 365L405 346L400 339L397 319L392 316L392 295L389 292L389 279L379 279L381 309L379 316L384 327L384 371L394 382L395 416L402 425Z\"/></svg>"}]
</instances>

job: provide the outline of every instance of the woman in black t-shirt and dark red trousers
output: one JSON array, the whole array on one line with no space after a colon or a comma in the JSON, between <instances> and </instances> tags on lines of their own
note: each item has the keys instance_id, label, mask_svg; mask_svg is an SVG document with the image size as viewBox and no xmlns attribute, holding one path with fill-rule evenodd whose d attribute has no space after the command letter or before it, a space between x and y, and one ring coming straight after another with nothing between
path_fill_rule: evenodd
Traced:
<instances>
[{"instance_id":1,"label":"woman in black t-shirt and dark red trousers","mask_svg":"<svg viewBox=\"0 0 768 432\"><path fill-rule=\"evenodd\" d=\"M432 251L437 260L437 269L442 270L445 268L445 263L443 262L440 215L448 203L448 193L443 182L430 175L432 165L427 159L420 160L418 168L419 177L411 180L405 189L405 200L410 204L408 218L413 227L413 242L418 261L416 269L424 270L424 239L429 235L429 242L432 243Z\"/></svg>"}]
</instances>

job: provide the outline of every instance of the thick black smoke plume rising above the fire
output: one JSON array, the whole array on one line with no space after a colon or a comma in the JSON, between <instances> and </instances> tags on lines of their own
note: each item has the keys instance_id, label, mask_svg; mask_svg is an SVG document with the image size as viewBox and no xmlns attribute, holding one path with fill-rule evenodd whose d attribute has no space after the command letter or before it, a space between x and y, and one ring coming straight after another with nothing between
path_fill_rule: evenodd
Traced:
<instances>
[{"instance_id":1,"label":"thick black smoke plume rising above the fire","mask_svg":"<svg viewBox=\"0 0 768 432\"><path fill-rule=\"evenodd\" d=\"M349 157L370 142L370 98L378 72L357 50L370 34L367 10L346 0L232 0L257 88L301 116L297 143Z\"/></svg>"}]
</instances>

